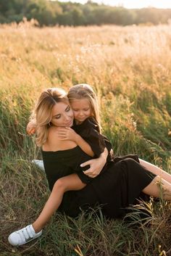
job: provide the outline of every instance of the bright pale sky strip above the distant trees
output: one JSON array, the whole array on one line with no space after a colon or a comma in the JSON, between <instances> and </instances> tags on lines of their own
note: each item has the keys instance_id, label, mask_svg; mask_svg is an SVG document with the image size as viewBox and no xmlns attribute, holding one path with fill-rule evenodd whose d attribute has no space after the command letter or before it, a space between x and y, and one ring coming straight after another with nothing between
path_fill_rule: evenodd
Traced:
<instances>
[{"instance_id":1,"label":"bright pale sky strip above the distant trees","mask_svg":"<svg viewBox=\"0 0 171 256\"><path fill-rule=\"evenodd\" d=\"M69 0L60 0L69 1ZM80 4L86 4L87 0L70 0ZM125 8L143 8L143 7L156 7L156 8L169 8L171 9L171 0L93 0L98 4L109 4L112 6L122 6Z\"/></svg>"}]
</instances>

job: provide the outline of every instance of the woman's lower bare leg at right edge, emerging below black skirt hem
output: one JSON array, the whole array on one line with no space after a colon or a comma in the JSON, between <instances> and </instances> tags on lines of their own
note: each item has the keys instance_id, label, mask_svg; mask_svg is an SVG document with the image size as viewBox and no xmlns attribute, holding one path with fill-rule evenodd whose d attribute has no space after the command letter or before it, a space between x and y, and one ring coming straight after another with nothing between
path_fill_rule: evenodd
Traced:
<instances>
[{"instance_id":1,"label":"woman's lower bare leg at right edge, emerging below black skirt hem","mask_svg":"<svg viewBox=\"0 0 171 256\"><path fill-rule=\"evenodd\" d=\"M171 200L171 183L165 181L160 176L156 176L154 180L143 189L143 193L149 196Z\"/></svg>"}]
</instances>

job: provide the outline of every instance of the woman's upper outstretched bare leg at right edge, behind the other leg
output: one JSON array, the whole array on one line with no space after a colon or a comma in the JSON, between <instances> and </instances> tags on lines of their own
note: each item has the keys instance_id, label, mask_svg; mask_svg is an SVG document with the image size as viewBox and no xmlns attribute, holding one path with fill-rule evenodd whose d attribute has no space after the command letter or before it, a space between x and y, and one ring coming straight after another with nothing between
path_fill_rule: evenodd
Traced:
<instances>
[{"instance_id":1,"label":"woman's upper outstretched bare leg at right edge, behind the other leg","mask_svg":"<svg viewBox=\"0 0 171 256\"><path fill-rule=\"evenodd\" d=\"M165 181L171 183L171 174L165 172L161 168L157 167L156 165L152 165L150 162L146 162L144 160L141 160L139 158L140 164L143 165L147 170L149 170L151 173L156 174L157 176L160 176Z\"/></svg>"}]
</instances>

